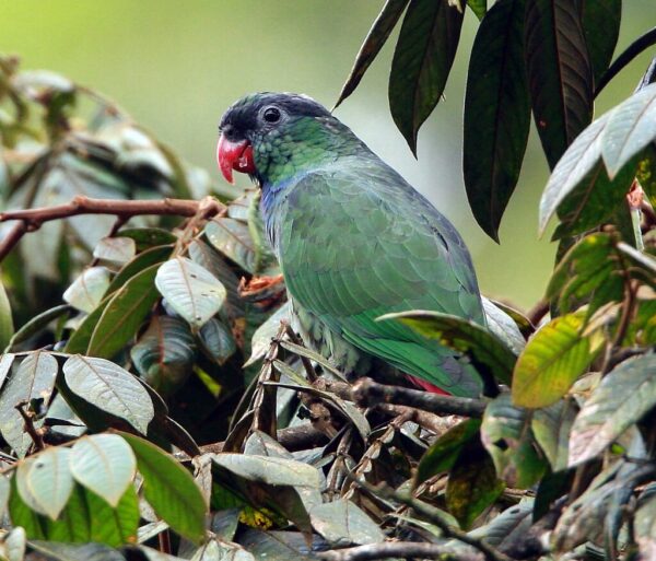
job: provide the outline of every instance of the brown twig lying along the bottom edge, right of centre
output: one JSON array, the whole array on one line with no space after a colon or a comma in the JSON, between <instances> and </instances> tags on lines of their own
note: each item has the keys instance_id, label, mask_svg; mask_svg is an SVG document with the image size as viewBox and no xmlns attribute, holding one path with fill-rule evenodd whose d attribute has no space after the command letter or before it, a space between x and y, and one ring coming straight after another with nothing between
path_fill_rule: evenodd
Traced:
<instances>
[{"instance_id":1,"label":"brown twig lying along the bottom edge, right of centre","mask_svg":"<svg viewBox=\"0 0 656 561\"><path fill-rule=\"evenodd\" d=\"M418 541L388 541L370 544L338 551L317 553L326 561L371 561L374 559L441 559L443 561L482 561L481 553L456 552L445 546L422 544Z\"/></svg>"}]
</instances>

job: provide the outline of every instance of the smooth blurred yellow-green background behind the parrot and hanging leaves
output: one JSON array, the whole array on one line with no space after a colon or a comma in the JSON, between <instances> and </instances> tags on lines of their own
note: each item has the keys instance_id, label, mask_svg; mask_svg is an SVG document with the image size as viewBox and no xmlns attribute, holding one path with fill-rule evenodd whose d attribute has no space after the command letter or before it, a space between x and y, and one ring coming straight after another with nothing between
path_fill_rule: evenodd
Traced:
<instances>
[{"instance_id":1,"label":"smooth blurred yellow-green background behind the parrot and hanging leaves","mask_svg":"<svg viewBox=\"0 0 656 561\"><path fill-rule=\"evenodd\" d=\"M227 105L244 93L270 90L306 93L332 106L383 3L0 0L0 51L19 55L24 70L54 70L113 97L220 182L214 145ZM655 21L654 0L625 1L617 52ZM455 223L482 292L528 308L544 290L555 250L548 236L537 236L548 167L532 130L501 245L488 238L467 204L460 168L467 60L477 27L468 12L446 98L420 132L418 160L387 106L394 40L336 115ZM597 101L597 116L633 91L652 56L644 54L611 83Z\"/></svg>"}]
</instances>

